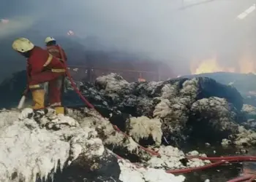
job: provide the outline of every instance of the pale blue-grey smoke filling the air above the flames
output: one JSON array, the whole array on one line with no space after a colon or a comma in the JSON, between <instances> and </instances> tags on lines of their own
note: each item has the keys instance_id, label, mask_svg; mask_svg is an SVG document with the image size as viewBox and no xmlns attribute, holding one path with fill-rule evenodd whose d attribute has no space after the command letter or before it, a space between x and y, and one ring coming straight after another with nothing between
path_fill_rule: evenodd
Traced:
<instances>
[{"instance_id":1,"label":"pale blue-grey smoke filling the air above the flames","mask_svg":"<svg viewBox=\"0 0 256 182\"><path fill-rule=\"evenodd\" d=\"M97 37L106 50L164 60L178 74L187 74L192 60L217 56L221 65L237 66L244 52L255 58L255 12L236 19L252 0L2 1L0 15L10 25L0 25L0 39L31 28L45 36L72 30Z\"/></svg>"}]
</instances>

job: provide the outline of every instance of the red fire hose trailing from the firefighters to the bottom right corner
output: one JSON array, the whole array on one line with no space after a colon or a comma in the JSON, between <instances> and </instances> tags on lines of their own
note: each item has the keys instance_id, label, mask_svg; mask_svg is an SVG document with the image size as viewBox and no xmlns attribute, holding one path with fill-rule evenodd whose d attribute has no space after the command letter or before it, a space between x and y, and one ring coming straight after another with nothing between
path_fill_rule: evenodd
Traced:
<instances>
[{"instance_id":1,"label":"red fire hose trailing from the firefighters to the bottom right corner","mask_svg":"<svg viewBox=\"0 0 256 182\"><path fill-rule=\"evenodd\" d=\"M63 57L63 53L62 53L60 47L59 47L59 51L61 52L61 58L64 58ZM91 103L89 103L88 100L86 100L86 98L82 95L80 90L78 90L78 87L76 87L76 84L75 84L74 80L72 79L72 76L69 74L69 70L67 69L66 63L64 63L64 64L65 64L65 69L66 69L67 77L68 77L69 81L71 82L71 85L72 85L73 89L75 90L75 92L80 96L80 98L83 100L83 102L86 103L87 106L89 106L89 108L92 108L95 111L97 111L94 108L94 106ZM102 114L100 114L100 113L99 113L99 115L102 116ZM113 128L116 131L121 132L121 130L116 125L113 125ZM126 135L124 132L121 132L121 133L125 137L129 137L129 135ZM153 150L150 150L150 149L146 149L145 147L140 146L139 144L138 144L138 146L140 147L140 149L143 149L144 151L148 152L148 154L151 154L152 156L160 156L160 154L157 153L156 151L153 151ZM119 159L122 159L118 155L116 155L116 156ZM166 170L166 173L173 173L173 174L176 174L176 173L189 173L189 172L192 172L192 171L195 171L195 170L205 170L205 169L208 169L208 168L211 168L211 167L217 167L219 165L225 164L226 162L248 162L248 161L256 162L256 157L246 157L246 156L242 156L242 157L241 156L239 156L239 157L238 156L233 156L233 157L187 157L187 158L188 159L197 158L197 159L202 159L202 160L210 160L211 162L214 162L214 163L211 163L209 165L204 165L202 167L191 167L191 168L186 168L186 169L181 169L181 170ZM233 179L233 180L227 181L227 182L239 182L239 181L245 181L245 180L254 181L255 178L256 178L255 175L248 175L246 177L236 178L236 179Z\"/></svg>"}]
</instances>

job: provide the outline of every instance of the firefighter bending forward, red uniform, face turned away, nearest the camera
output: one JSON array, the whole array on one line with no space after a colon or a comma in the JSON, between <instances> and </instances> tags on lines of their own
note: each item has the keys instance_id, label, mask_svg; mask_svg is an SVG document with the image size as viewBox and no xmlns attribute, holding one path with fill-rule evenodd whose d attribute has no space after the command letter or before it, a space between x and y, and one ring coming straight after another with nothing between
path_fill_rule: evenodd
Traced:
<instances>
[{"instance_id":1,"label":"firefighter bending forward, red uniform, face turned away, nearest the camera","mask_svg":"<svg viewBox=\"0 0 256 182\"><path fill-rule=\"evenodd\" d=\"M13 41L12 48L27 58L28 87L34 100L33 108L45 108L44 84L48 82L50 106L55 108L56 114L64 114L64 107L61 106L61 78L66 71L64 64L26 38Z\"/></svg>"}]
</instances>

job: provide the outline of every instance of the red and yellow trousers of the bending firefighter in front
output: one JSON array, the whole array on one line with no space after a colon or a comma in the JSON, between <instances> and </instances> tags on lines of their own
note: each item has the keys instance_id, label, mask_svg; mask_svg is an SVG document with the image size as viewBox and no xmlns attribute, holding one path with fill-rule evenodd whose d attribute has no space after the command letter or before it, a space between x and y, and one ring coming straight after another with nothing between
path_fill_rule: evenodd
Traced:
<instances>
[{"instance_id":1,"label":"red and yellow trousers of the bending firefighter in front","mask_svg":"<svg viewBox=\"0 0 256 182\"><path fill-rule=\"evenodd\" d=\"M29 88L34 100L34 109L45 108L44 84L48 82L49 104L55 108L56 114L64 114L64 108L61 106L61 79L63 75L64 73L44 71L32 76L29 81Z\"/></svg>"}]
</instances>

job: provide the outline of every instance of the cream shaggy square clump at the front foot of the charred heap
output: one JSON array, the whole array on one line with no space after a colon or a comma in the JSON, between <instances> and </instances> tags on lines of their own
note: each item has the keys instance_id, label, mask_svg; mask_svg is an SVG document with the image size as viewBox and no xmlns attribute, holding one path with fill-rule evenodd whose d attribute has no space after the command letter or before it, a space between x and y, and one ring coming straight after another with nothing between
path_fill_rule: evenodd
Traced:
<instances>
[{"instance_id":1,"label":"cream shaggy square clump at the front foot of the charred heap","mask_svg":"<svg viewBox=\"0 0 256 182\"><path fill-rule=\"evenodd\" d=\"M149 119L146 116L131 117L129 119L129 135L139 142L142 138L152 136L156 145L162 143L162 122L160 119Z\"/></svg>"}]
</instances>

